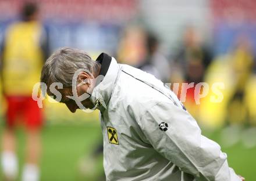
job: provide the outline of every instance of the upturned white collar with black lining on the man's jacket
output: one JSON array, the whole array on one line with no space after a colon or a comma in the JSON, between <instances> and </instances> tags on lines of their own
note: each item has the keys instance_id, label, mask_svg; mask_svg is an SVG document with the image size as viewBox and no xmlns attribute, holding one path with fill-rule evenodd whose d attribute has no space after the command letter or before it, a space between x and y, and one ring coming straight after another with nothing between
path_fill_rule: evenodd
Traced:
<instances>
[{"instance_id":1,"label":"upturned white collar with black lining on the man's jacket","mask_svg":"<svg viewBox=\"0 0 256 181\"><path fill-rule=\"evenodd\" d=\"M106 53L101 53L96 61L101 64L101 70L97 80L98 84L93 89L90 100L99 110L103 111L111 98L119 72L119 64Z\"/></svg>"}]
</instances>

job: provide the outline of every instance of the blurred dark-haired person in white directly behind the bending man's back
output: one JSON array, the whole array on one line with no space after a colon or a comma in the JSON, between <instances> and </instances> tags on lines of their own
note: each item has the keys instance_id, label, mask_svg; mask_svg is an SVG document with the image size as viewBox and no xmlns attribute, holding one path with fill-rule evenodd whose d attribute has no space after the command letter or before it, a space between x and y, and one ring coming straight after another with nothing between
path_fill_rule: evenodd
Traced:
<instances>
[{"instance_id":1,"label":"blurred dark-haired person in white directly behind the bending man's back","mask_svg":"<svg viewBox=\"0 0 256 181\"><path fill-rule=\"evenodd\" d=\"M148 32L146 43L147 56L137 68L154 75L165 83L169 82L170 64L159 51L159 39L157 35Z\"/></svg>"}]
</instances>

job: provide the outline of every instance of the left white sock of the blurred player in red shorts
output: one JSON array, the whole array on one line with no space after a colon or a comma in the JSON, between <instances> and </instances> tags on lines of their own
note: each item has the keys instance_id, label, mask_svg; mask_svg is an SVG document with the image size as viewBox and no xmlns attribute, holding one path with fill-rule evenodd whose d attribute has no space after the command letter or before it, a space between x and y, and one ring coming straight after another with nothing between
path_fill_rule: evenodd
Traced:
<instances>
[{"instance_id":1,"label":"left white sock of the blurred player in red shorts","mask_svg":"<svg viewBox=\"0 0 256 181\"><path fill-rule=\"evenodd\" d=\"M18 164L15 153L12 151L3 151L1 155L1 165L3 174L8 179L16 179Z\"/></svg>"}]
</instances>

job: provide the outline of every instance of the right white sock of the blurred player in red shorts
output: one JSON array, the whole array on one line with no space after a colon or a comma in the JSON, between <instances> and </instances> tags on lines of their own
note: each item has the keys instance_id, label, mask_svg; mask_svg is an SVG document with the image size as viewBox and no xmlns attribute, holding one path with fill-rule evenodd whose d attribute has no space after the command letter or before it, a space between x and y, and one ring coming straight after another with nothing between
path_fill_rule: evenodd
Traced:
<instances>
[{"instance_id":1,"label":"right white sock of the blurred player in red shorts","mask_svg":"<svg viewBox=\"0 0 256 181\"><path fill-rule=\"evenodd\" d=\"M26 164L23 169L22 181L38 181L39 168L34 164Z\"/></svg>"}]
</instances>

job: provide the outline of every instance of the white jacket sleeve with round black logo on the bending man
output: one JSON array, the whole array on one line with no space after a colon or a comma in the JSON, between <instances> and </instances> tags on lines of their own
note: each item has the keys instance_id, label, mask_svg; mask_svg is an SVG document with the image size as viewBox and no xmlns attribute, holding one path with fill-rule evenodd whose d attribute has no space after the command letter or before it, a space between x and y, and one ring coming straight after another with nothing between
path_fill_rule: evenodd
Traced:
<instances>
[{"instance_id":1,"label":"white jacket sleeve with round black logo on the bending man","mask_svg":"<svg viewBox=\"0 0 256 181\"><path fill-rule=\"evenodd\" d=\"M196 180L241 180L229 168L219 144L202 136L197 122L182 107L158 103L141 116L138 125L146 142Z\"/></svg>"}]
</instances>

